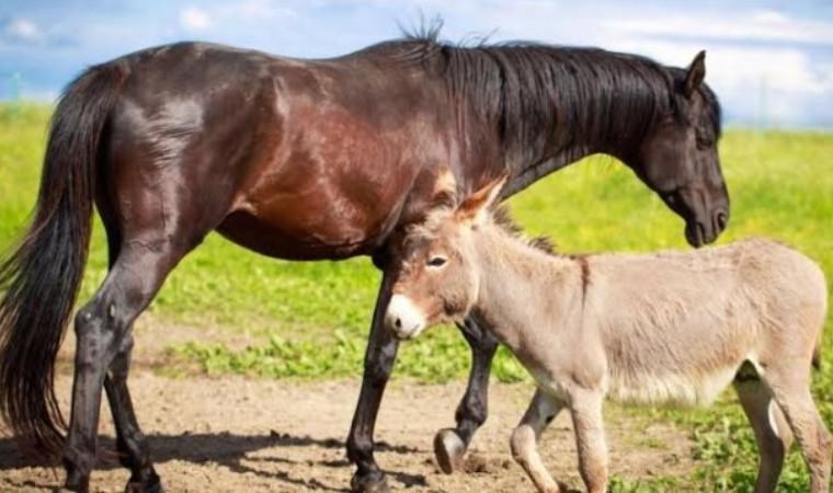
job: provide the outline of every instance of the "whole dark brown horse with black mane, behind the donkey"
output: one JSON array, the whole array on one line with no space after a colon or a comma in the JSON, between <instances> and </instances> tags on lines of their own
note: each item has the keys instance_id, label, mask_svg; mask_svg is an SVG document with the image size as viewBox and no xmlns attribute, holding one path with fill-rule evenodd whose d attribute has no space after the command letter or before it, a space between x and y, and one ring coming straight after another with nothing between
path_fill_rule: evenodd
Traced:
<instances>
[{"instance_id":1,"label":"whole dark brown horse with black mane, behind the donkey","mask_svg":"<svg viewBox=\"0 0 833 493\"><path fill-rule=\"evenodd\" d=\"M373 255L385 270L443 172L463 194L509 173L509 196L608 153L685 219L689 243L710 242L729 199L719 106L704 74L701 55L682 70L597 49L464 48L430 36L303 61L176 44L93 67L56 108L34 220L0 267L0 410L18 436L61 454L67 489L85 491L103 388L130 491L161 491L126 380L132 324L176 263L216 230L274 257ZM65 440L54 363L93 204L110 272L75 319ZM393 277L383 276L347 442L363 491L386 489L373 429L398 347L380 323ZM458 426L443 435L459 443L438 447L447 463L486 419L497 346L475 321L464 333L475 363Z\"/></svg>"}]
</instances>

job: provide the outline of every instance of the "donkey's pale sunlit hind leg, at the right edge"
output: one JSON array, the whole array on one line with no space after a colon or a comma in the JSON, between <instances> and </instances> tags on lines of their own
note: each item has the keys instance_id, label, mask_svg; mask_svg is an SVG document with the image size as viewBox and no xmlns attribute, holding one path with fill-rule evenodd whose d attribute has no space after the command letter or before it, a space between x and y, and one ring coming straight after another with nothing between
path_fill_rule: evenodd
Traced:
<instances>
[{"instance_id":1,"label":"donkey's pale sunlit hind leg, at the right edge","mask_svg":"<svg viewBox=\"0 0 833 493\"><path fill-rule=\"evenodd\" d=\"M805 368L773 367L763 378L801 446L810 469L810 492L826 493L830 491L833 444L810 393L809 358Z\"/></svg>"}]
</instances>

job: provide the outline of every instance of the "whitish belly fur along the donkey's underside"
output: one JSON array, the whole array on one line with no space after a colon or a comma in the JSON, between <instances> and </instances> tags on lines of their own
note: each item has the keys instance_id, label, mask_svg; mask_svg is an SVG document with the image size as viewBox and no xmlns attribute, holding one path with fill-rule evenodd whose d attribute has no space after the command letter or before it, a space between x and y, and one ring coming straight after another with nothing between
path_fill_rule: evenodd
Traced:
<instances>
[{"instance_id":1,"label":"whitish belly fur along the donkey's underside","mask_svg":"<svg viewBox=\"0 0 833 493\"><path fill-rule=\"evenodd\" d=\"M628 404L706 405L732 382L737 371L738 367L731 366L695 376L620 374L611 376L607 395Z\"/></svg>"}]
</instances>

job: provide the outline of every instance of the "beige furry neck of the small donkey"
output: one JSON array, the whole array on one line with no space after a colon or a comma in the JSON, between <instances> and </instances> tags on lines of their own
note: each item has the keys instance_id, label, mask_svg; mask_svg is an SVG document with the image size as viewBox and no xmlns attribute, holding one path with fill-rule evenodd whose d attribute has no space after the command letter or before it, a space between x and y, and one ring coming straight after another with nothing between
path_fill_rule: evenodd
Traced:
<instances>
[{"instance_id":1,"label":"beige furry neck of the small donkey","mask_svg":"<svg viewBox=\"0 0 833 493\"><path fill-rule=\"evenodd\" d=\"M477 318L510 348L532 326L552 322L573 297L580 267L569 257L548 255L498 231L480 233Z\"/></svg>"}]
</instances>

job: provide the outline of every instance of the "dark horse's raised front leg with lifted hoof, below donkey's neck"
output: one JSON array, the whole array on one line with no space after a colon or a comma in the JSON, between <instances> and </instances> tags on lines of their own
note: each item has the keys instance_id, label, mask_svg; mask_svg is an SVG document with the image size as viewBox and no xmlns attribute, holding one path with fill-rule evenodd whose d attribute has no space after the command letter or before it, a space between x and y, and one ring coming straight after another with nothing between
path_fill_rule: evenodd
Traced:
<instances>
[{"instance_id":1,"label":"dark horse's raised front leg with lifted hoof, below donkey's neck","mask_svg":"<svg viewBox=\"0 0 833 493\"><path fill-rule=\"evenodd\" d=\"M456 428L443 428L434 437L434 454L446 474L459 470L475 432L489 414L489 375L498 340L472 318L458 328L471 347L471 372L463 400L457 405Z\"/></svg>"}]
</instances>

